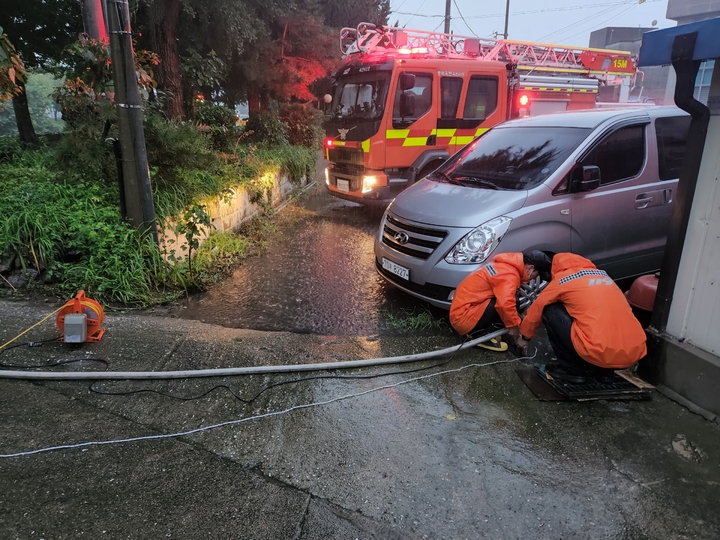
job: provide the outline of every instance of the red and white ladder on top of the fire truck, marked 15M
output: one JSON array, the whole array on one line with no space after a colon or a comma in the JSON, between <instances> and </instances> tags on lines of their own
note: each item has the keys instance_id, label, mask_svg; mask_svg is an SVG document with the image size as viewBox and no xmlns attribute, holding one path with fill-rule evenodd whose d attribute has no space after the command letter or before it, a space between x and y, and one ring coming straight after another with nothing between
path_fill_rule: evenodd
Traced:
<instances>
[{"instance_id":1,"label":"red and white ladder on top of the fire truck, marked 15M","mask_svg":"<svg viewBox=\"0 0 720 540\"><path fill-rule=\"evenodd\" d=\"M637 71L636 58L626 51L495 40L371 23L360 23L357 28L343 28L340 49L343 58L355 54L397 54L498 60L517 66L518 71L584 75L605 82L633 77Z\"/></svg>"}]
</instances>

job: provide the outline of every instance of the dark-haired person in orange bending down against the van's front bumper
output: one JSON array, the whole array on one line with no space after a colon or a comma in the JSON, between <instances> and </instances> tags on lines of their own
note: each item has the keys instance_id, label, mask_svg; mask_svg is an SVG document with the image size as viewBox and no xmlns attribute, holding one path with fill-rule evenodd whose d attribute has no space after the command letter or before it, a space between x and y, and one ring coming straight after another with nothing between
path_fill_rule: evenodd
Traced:
<instances>
[{"instance_id":1,"label":"dark-haired person in orange bending down against the van's front bumper","mask_svg":"<svg viewBox=\"0 0 720 540\"><path fill-rule=\"evenodd\" d=\"M550 258L542 251L496 255L460 283L450 305L450 324L460 335L466 335L502 323L516 344L524 347L527 343L520 337L515 293L522 283L538 275L549 280L549 271ZM480 346L493 351L508 348L499 340Z\"/></svg>"}]
</instances>

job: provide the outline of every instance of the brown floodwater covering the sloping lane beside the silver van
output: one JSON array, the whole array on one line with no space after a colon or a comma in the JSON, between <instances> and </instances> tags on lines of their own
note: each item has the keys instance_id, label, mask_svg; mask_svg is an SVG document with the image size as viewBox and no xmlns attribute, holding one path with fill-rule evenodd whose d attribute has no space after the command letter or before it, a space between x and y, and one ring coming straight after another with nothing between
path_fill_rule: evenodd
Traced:
<instances>
[{"instance_id":1,"label":"brown floodwater covering the sloping lane beside the silver van","mask_svg":"<svg viewBox=\"0 0 720 540\"><path fill-rule=\"evenodd\" d=\"M393 321L431 313L438 323L423 333L451 334L445 311L377 274L373 235L382 211L331 197L318 182L281 210L264 253L172 315L232 328L369 336L397 333Z\"/></svg>"}]
</instances>

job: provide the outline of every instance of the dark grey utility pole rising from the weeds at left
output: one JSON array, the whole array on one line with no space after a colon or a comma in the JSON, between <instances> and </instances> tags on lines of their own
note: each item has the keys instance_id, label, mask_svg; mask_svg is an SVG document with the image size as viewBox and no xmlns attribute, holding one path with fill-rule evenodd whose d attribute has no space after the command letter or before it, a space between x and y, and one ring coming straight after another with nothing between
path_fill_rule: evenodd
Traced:
<instances>
[{"instance_id":1,"label":"dark grey utility pole rising from the weeds at left","mask_svg":"<svg viewBox=\"0 0 720 540\"><path fill-rule=\"evenodd\" d=\"M135 74L130 9L128 0L105 0L105 2L120 129L122 180L127 218L141 232L152 234L157 243L155 204L145 150L142 102Z\"/></svg>"}]
</instances>

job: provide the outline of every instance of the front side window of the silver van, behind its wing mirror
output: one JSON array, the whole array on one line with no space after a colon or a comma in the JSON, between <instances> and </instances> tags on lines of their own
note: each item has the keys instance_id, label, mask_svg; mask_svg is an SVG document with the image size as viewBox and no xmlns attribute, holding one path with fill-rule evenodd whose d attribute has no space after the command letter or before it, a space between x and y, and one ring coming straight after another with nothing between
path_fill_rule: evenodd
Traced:
<instances>
[{"instance_id":1,"label":"front side window of the silver van, behind its wing mirror","mask_svg":"<svg viewBox=\"0 0 720 540\"><path fill-rule=\"evenodd\" d=\"M645 163L645 125L627 126L610 134L582 165L600 167L600 184L612 184L634 178Z\"/></svg>"}]
</instances>

